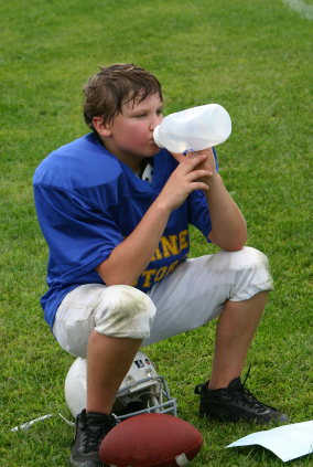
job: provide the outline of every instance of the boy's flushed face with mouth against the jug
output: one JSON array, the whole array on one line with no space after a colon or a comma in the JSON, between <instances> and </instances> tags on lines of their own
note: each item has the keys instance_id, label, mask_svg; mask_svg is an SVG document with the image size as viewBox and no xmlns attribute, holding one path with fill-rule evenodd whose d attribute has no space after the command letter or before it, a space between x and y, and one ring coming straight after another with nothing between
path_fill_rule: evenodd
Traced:
<instances>
[{"instance_id":1,"label":"boy's flushed face with mouth against the jug","mask_svg":"<svg viewBox=\"0 0 313 467\"><path fill-rule=\"evenodd\" d=\"M139 96L140 97L140 96ZM153 140L153 130L160 125L163 103L159 93L151 94L139 103L131 100L122 105L109 127L108 136L102 135L105 147L131 170L140 171L143 158L155 156L160 148Z\"/></svg>"}]
</instances>

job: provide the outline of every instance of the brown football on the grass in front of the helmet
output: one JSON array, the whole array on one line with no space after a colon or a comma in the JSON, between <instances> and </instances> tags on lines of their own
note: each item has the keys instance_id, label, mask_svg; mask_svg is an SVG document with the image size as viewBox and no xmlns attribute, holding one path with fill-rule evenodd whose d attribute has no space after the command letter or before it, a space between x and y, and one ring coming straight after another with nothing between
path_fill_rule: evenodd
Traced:
<instances>
[{"instance_id":1,"label":"brown football on the grass in front of the helmet","mask_svg":"<svg viewBox=\"0 0 313 467\"><path fill-rule=\"evenodd\" d=\"M100 445L100 458L115 467L184 467L202 448L202 436L173 415L132 416L112 428Z\"/></svg>"}]
</instances>

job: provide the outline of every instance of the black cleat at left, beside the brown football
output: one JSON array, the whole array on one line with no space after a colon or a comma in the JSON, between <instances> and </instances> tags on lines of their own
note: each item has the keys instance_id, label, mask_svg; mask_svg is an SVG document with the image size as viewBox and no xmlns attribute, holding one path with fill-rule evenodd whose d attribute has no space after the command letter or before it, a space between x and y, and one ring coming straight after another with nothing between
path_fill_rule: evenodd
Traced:
<instances>
[{"instance_id":1,"label":"black cleat at left, beside the brown football","mask_svg":"<svg viewBox=\"0 0 313 467\"><path fill-rule=\"evenodd\" d=\"M104 437L115 426L114 415L108 416L96 412L86 414L84 408L76 417L69 465L72 467L105 466L99 456L99 447Z\"/></svg>"}]
</instances>

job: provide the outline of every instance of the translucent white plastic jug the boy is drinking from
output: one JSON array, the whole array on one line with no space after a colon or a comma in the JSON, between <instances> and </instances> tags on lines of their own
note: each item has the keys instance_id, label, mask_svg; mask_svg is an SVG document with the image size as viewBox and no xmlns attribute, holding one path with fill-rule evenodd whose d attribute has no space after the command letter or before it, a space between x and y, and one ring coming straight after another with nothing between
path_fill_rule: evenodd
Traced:
<instances>
[{"instance_id":1,"label":"translucent white plastic jug the boy is drinking from","mask_svg":"<svg viewBox=\"0 0 313 467\"><path fill-rule=\"evenodd\" d=\"M207 104L168 115L154 128L153 139L172 152L199 151L226 141L230 132L227 110L222 105Z\"/></svg>"}]
</instances>

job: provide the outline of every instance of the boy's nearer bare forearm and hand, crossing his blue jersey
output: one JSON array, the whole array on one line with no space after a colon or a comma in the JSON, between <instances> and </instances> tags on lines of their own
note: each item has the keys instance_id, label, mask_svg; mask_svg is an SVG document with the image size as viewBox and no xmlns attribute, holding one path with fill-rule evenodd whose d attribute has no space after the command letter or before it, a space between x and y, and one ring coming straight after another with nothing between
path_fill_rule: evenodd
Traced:
<instances>
[{"instance_id":1,"label":"boy's nearer bare forearm and hand, crossing his blue jersey","mask_svg":"<svg viewBox=\"0 0 313 467\"><path fill-rule=\"evenodd\" d=\"M150 263L171 212L177 209L192 191L208 190L206 183L197 181L212 176L209 170L197 168L206 158L206 155L184 158L133 232L96 267L107 285L132 285Z\"/></svg>"}]
</instances>

